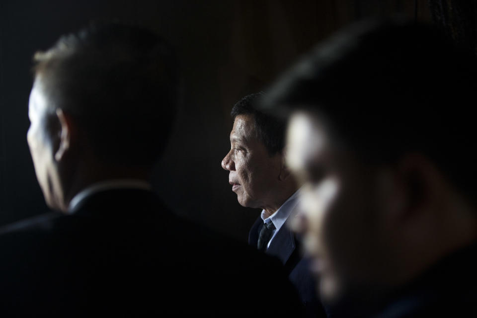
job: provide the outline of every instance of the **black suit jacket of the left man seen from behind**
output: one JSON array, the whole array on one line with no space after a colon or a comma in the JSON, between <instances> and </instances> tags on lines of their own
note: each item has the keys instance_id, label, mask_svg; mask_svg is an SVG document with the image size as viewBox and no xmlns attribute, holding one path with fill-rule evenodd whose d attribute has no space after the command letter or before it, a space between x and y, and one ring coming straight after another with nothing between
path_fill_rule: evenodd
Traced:
<instances>
[{"instance_id":1,"label":"black suit jacket of the left man seen from behind","mask_svg":"<svg viewBox=\"0 0 477 318\"><path fill-rule=\"evenodd\" d=\"M72 215L5 227L0 253L2 313L301 316L278 262L177 218L144 190L104 191ZM265 270L279 295L250 292ZM263 306L276 297L284 308Z\"/></svg>"}]
</instances>

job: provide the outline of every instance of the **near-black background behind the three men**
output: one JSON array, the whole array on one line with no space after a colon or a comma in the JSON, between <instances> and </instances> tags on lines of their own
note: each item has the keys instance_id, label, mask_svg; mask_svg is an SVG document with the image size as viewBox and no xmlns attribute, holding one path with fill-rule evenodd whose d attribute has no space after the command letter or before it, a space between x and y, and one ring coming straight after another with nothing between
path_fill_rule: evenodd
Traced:
<instances>
[{"instance_id":1,"label":"near-black background behind the three men","mask_svg":"<svg viewBox=\"0 0 477 318\"><path fill-rule=\"evenodd\" d=\"M426 0L0 0L0 225L47 211L26 143L27 109L32 55L60 35L114 18L173 44L182 93L155 188L179 214L246 241L259 211L239 206L220 166L231 107L340 27L395 13L430 21Z\"/></svg>"}]
</instances>

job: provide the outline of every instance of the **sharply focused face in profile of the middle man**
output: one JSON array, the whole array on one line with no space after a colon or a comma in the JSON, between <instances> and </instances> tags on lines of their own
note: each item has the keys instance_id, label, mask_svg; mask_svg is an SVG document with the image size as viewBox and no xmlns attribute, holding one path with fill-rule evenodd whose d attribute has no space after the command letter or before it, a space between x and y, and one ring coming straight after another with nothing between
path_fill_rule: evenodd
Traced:
<instances>
[{"instance_id":1,"label":"sharply focused face in profile of the middle man","mask_svg":"<svg viewBox=\"0 0 477 318\"><path fill-rule=\"evenodd\" d=\"M270 156L259 142L251 115L238 115L230 134L231 150L222 160L240 205L265 208L273 198L282 156Z\"/></svg>"}]
</instances>

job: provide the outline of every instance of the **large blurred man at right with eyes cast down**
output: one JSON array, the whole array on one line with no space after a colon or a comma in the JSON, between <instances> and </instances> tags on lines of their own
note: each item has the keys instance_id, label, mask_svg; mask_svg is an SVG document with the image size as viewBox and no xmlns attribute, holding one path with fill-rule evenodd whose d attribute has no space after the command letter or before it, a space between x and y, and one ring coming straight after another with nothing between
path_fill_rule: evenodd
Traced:
<instances>
[{"instance_id":1,"label":"large blurred man at right with eyes cast down","mask_svg":"<svg viewBox=\"0 0 477 318\"><path fill-rule=\"evenodd\" d=\"M268 92L333 314L476 317L476 87L475 52L394 21L336 34Z\"/></svg>"}]
</instances>

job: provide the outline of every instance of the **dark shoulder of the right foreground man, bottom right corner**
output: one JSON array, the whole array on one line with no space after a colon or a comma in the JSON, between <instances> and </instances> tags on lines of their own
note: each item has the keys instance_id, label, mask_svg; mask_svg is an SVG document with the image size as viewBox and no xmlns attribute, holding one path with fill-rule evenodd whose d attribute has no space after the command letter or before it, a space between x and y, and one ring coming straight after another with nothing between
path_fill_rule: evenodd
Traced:
<instances>
[{"instance_id":1,"label":"dark shoulder of the right foreground man, bottom right corner","mask_svg":"<svg viewBox=\"0 0 477 318\"><path fill-rule=\"evenodd\" d=\"M396 290L371 317L476 317L477 243L457 249Z\"/></svg>"}]
</instances>

